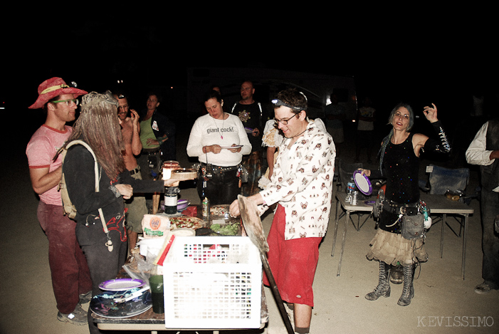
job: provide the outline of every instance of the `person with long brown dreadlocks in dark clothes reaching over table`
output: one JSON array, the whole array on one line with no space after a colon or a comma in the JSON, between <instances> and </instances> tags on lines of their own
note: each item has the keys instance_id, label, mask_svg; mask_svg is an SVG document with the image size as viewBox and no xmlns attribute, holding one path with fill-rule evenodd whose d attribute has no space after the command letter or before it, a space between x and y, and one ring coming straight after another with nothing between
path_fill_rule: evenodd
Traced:
<instances>
[{"instance_id":1,"label":"person with long brown dreadlocks in dark clothes reaching over table","mask_svg":"<svg viewBox=\"0 0 499 334\"><path fill-rule=\"evenodd\" d=\"M116 278L127 256L125 204L133 192L163 192L164 186L178 181L134 179L125 167L118 102L110 91L83 95L81 113L67 144L83 140L95 153L100 172L100 191L95 192L94 160L83 145L68 148L63 173L68 195L75 205L76 237L90 268L92 296L100 291L99 284ZM103 220L101 221L102 212ZM108 233L103 229L107 226ZM112 245L112 248L108 247ZM100 333L88 309L90 333Z\"/></svg>"}]
</instances>

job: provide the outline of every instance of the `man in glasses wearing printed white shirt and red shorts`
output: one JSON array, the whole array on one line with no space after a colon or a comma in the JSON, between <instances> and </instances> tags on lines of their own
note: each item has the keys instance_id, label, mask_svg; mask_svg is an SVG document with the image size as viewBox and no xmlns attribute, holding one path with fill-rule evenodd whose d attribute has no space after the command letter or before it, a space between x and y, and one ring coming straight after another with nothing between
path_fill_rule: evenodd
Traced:
<instances>
[{"instance_id":1,"label":"man in glasses wearing printed white shirt and red shorts","mask_svg":"<svg viewBox=\"0 0 499 334\"><path fill-rule=\"evenodd\" d=\"M309 333L312 283L319 244L329 222L335 144L307 118L307 98L298 90L278 93L275 122L285 140L278 149L271 181L253 200L264 212L278 203L268 234L268 262L283 301L293 308L296 333ZM238 216L238 201L230 207ZM268 280L264 278L268 285Z\"/></svg>"}]
</instances>

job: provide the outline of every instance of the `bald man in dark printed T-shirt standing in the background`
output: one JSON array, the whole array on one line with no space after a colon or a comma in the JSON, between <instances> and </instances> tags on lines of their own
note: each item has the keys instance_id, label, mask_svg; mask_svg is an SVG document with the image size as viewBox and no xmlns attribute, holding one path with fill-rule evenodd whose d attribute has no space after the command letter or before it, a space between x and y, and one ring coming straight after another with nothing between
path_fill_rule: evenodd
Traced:
<instances>
[{"instance_id":1,"label":"bald man in dark printed T-shirt standing in the background","mask_svg":"<svg viewBox=\"0 0 499 334\"><path fill-rule=\"evenodd\" d=\"M258 179L262 176L262 135L263 135L263 108L261 103L253 99L255 88L249 80L241 83L241 100L234 103L230 110L232 115L236 115L248 133L248 140L251 143L251 153L243 156L243 167L248 171L248 182L243 184L242 194L250 196L256 194L258 189Z\"/></svg>"}]
</instances>

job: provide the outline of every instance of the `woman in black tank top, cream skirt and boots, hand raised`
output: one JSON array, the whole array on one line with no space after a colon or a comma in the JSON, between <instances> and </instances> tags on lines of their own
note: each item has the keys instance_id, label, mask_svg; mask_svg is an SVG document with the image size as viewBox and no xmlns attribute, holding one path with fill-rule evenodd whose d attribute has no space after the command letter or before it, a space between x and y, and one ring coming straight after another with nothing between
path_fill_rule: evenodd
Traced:
<instances>
[{"instance_id":1,"label":"woman in black tank top, cream skirt and boots, hand raised","mask_svg":"<svg viewBox=\"0 0 499 334\"><path fill-rule=\"evenodd\" d=\"M438 133L440 142L421 133L410 132L414 125L414 113L410 105L400 103L389 116L388 124L392 125L392 130L382 141L379 170L362 169L362 174L367 177L387 180L378 230L367 254L369 261L379 261L379 283L374 291L365 296L368 301L390 296L390 265L396 266L398 262L403 267L404 288L397 303L399 306L409 305L414 297L415 265L428 260L423 238L409 240L401 236L400 215L404 212L401 207L416 207L420 202L420 153L451 151L446 133L437 118L436 105L432 105L424 107L424 116Z\"/></svg>"}]
</instances>

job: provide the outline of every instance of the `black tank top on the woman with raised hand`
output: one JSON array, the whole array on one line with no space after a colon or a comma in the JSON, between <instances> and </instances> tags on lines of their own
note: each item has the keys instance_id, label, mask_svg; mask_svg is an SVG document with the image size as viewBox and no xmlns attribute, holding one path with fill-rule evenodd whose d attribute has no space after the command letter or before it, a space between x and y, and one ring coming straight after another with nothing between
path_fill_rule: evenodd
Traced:
<instances>
[{"instance_id":1,"label":"black tank top on the woman with raised hand","mask_svg":"<svg viewBox=\"0 0 499 334\"><path fill-rule=\"evenodd\" d=\"M385 197L399 204L419 201L419 157L414 155L413 135L398 145L389 142L384 151Z\"/></svg>"}]
</instances>

